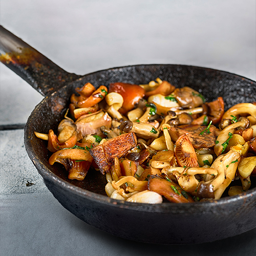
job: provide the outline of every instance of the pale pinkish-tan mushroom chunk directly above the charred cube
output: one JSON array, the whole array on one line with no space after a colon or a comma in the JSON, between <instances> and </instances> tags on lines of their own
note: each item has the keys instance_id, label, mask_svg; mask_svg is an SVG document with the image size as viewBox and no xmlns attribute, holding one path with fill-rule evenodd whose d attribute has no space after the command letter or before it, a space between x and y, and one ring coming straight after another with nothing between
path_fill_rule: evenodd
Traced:
<instances>
[{"instance_id":1,"label":"pale pinkish-tan mushroom chunk directly above the charred cube","mask_svg":"<svg viewBox=\"0 0 256 256\"><path fill-rule=\"evenodd\" d=\"M106 129L109 129L111 127L111 121L112 119L109 114L101 110L94 114L81 116L76 120L75 124L77 131L81 132L83 137L88 134L97 134L103 137L100 127L105 126Z\"/></svg>"}]
</instances>

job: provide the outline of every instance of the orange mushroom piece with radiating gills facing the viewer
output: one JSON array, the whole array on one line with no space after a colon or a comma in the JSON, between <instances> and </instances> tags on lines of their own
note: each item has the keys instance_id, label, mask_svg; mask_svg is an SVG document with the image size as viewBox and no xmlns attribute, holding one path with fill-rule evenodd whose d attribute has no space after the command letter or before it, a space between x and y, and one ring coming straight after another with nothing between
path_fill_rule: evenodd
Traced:
<instances>
[{"instance_id":1,"label":"orange mushroom piece with radiating gills facing the viewer","mask_svg":"<svg viewBox=\"0 0 256 256\"><path fill-rule=\"evenodd\" d=\"M186 134L182 134L175 145L174 154L179 166L199 167L195 148Z\"/></svg>"}]
</instances>

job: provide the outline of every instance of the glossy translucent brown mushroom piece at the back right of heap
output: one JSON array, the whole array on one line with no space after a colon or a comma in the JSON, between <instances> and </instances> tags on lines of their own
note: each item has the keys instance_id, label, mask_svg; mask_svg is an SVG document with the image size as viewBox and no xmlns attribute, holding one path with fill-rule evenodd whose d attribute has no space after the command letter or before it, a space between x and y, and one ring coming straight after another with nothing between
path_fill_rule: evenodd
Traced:
<instances>
[{"instance_id":1,"label":"glossy translucent brown mushroom piece at the back right of heap","mask_svg":"<svg viewBox=\"0 0 256 256\"><path fill-rule=\"evenodd\" d=\"M204 103L202 94L190 87L176 88L174 95L182 108L193 109Z\"/></svg>"}]
</instances>

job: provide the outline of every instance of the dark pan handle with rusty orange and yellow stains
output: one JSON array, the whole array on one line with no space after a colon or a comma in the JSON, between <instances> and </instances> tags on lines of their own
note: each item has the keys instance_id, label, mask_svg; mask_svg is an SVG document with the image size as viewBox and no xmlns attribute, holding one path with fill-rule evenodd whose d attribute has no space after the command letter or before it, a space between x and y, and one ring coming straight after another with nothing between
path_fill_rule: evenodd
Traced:
<instances>
[{"instance_id":1,"label":"dark pan handle with rusty orange and yellow stains","mask_svg":"<svg viewBox=\"0 0 256 256\"><path fill-rule=\"evenodd\" d=\"M3 26L0 26L0 61L43 96L81 77L61 69Z\"/></svg>"}]
</instances>

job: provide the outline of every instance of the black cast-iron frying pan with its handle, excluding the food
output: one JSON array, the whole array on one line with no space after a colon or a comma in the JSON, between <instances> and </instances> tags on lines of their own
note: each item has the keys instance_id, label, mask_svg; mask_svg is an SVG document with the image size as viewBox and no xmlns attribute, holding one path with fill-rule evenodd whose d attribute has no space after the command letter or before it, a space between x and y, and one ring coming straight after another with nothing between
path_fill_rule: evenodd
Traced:
<instances>
[{"instance_id":1,"label":"black cast-iron frying pan with its handle, excluding the food","mask_svg":"<svg viewBox=\"0 0 256 256\"><path fill-rule=\"evenodd\" d=\"M158 244L216 241L256 227L255 187L239 196L207 202L150 205L117 201L105 196L105 177L94 169L83 181L68 180L62 165L48 163L47 144L34 135L34 131L56 131L74 89L86 82L97 88L112 82L147 83L160 77L176 87L199 91L207 101L222 96L228 109L238 102L256 100L255 81L185 65L136 65L78 76L61 69L2 26L0 34L1 61L45 96L25 127L27 153L54 197L75 216L115 236Z\"/></svg>"}]
</instances>

